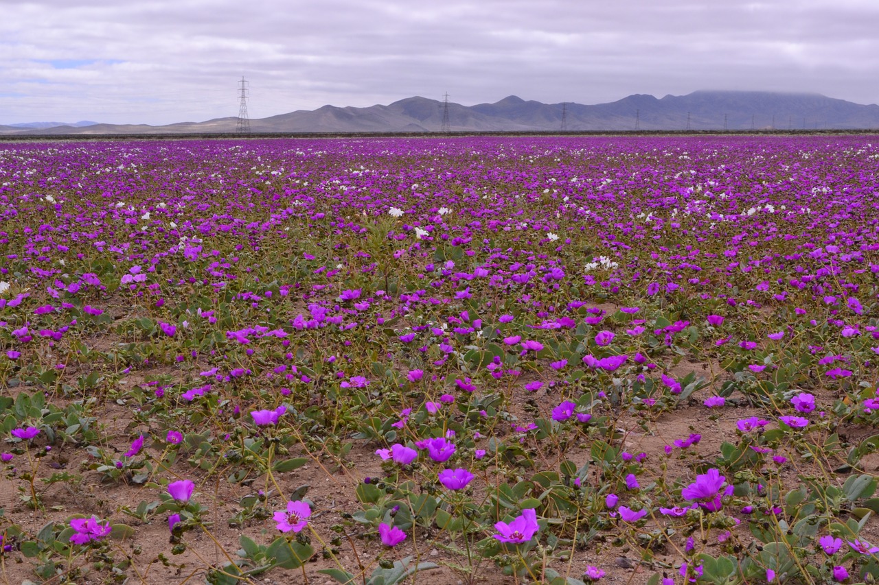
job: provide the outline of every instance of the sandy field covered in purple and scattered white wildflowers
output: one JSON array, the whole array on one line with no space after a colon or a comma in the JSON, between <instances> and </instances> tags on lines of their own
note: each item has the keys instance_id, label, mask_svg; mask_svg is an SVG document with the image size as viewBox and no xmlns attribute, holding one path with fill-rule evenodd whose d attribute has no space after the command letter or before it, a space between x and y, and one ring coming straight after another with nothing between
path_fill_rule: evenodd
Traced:
<instances>
[{"instance_id":1,"label":"sandy field covered in purple and scattered white wildflowers","mask_svg":"<svg viewBox=\"0 0 879 585\"><path fill-rule=\"evenodd\" d=\"M0 148L4 582L874 582L875 136Z\"/></svg>"}]
</instances>

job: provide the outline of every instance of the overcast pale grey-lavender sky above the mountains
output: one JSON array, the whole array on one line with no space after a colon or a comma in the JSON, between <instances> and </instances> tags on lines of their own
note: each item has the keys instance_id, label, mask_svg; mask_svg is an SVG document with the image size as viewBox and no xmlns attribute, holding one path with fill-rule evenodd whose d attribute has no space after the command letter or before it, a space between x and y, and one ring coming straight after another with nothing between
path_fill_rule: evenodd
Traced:
<instances>
[{"instance_id":1,"label":"overcast pale grey-lavender sky above the mountains","mask_svg":"<svg viewBox=\"0 0 879 585\"><path fill-rule=\"evenodd\" d=\"M877 0L3 0L0 124L251 119L422 96L879 102Z\"/></svg>"}]
</instances>

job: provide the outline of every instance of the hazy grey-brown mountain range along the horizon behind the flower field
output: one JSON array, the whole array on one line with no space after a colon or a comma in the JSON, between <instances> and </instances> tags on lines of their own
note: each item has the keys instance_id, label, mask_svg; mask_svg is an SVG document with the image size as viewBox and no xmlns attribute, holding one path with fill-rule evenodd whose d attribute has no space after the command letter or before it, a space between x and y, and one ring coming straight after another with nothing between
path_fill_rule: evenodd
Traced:
<instances>
[{"instance_id":1,"label":"hazy grey-brown mountain range along the horizon behind the flower field","mask_svg":"<svg viewBox=\"0 0 879 585\"><path fill-rule=\"evenodd\" d=\"M494 104L447 105L426 97L406 97L389 105L324 105L251 119L251 132L438 132L447 108L453 132L529 132L566 130L749 130L879 128L879 105L860 105L819 94L769 91L694 91L662 98L635 94L608 104L542 104L516 96ZM65 126L0 126L9 134L204 134L234 133L234 117L167 126L77 122ZM33 123L42 124L42 123ZM48 123L46 123L48 124ZM23 127L27 126L27 127Z\"/></svg>"}]
</instances>

